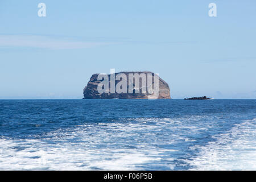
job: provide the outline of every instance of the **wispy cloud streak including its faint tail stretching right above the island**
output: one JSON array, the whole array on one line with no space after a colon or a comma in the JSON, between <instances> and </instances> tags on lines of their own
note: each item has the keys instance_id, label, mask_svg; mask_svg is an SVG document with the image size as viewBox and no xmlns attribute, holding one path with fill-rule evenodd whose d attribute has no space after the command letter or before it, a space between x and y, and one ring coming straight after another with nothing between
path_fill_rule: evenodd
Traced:
<instances>
[{"instance_id":1,"label":"wispy cloud streak including its faint tail stretching right above the island","mask_svg":"<svg viewBox=\"0 0 256 182\"><path fill-rule=\"evenodd\" d=\"M112 44L191 44L196 41L144 41L130 38L98 37L84 38L59 35L1 35L1 48L46 48L46 49L83 49Z\"/></svg>"}]
</instances>

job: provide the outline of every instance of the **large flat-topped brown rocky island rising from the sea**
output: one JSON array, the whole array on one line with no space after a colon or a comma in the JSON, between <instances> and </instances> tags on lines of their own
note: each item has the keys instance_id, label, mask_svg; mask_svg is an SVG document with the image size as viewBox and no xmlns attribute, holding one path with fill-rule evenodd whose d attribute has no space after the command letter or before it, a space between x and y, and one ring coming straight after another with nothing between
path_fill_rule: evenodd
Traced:
<instances>
[{"instance_id":1,"label":"large flat-topped brown rocky island rising from the sea","mask_svg":"<svg viewBox=\"0 0 256 182\"><path fill-rule=\"evenodd\" d=\"M105 85L102 83L104 80ZM122 92L118 92L118 88ZM93 74L84 88L84 99L90 98L170 99L171 97L169 85L155 73L119 72L110 75Z\"/></svg>"}]
</instances>

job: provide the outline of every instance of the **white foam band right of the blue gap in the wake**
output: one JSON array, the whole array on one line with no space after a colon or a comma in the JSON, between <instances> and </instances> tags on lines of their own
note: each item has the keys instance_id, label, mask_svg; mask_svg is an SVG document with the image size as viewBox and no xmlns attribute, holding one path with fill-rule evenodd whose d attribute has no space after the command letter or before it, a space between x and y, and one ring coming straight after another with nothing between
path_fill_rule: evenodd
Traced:
<instances>
[{"instance_id":1,"label":"white foam band right of the blue gap in the wake","mask_svg":"<svg viewBox=\"0 0 256 182\"><path fill-rule=\"evenodd\" d=\"M228 133L214 136L215 142L199 147L190 160L196 170L256 170L255 118L234 126Z\"/></svg>"}]
</instances>

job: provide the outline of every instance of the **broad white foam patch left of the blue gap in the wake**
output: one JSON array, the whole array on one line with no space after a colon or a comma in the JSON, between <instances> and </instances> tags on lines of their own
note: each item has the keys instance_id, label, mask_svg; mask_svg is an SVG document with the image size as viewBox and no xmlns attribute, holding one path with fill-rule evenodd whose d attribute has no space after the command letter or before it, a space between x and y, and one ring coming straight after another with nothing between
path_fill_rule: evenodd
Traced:
<instances>
[{"instance_id":1,"label":"broad white foam patch left of the blue gap in the wake","mask_svg":"<svg viewBox=\"0 0 256 182\"><path fill-rule=\"evenodd\" d=\"M157 126L141 125L142 120L139 123L80 125L48 133L45 139L0 139L0 169L139 170L143 169L140 167L142 164L155 163L163 156L167 156L170 162L174 160L168 158L166 152L175 150L154 147L154 143L140 143L147 135L150 136L151 130L160 130ZM137 133L142 131L141 138ZM132 142L118 142L124 135L133 137L137 146ZM170 168L173 168L171 164Z\"/></svg>"}]
</instances>

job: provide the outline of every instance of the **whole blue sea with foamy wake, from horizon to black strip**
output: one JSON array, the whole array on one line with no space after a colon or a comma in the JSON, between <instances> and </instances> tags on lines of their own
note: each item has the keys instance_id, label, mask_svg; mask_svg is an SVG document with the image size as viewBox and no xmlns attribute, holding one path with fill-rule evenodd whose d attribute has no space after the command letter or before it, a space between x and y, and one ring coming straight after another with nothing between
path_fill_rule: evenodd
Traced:
<instances>
[{"instance_id":1,"label":"whole blue sea with foamy wake, from horizon to black strip","mask_svg":"<svg viewBox=\"0 0 256 182\"><path fill-rule=\"evenodd\" d=\"M0 169L256 169L256 100L0 100Z\"/></svg>"}]
</instances>

